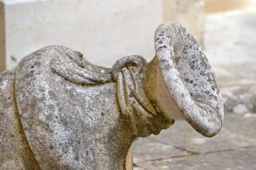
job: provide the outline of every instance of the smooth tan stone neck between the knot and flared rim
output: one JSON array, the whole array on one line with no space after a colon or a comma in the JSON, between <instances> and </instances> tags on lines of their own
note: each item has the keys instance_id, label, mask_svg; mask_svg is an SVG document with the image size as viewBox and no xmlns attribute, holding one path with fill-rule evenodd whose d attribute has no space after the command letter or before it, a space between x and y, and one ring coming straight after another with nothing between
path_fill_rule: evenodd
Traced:
<instances>
[{"instance_id":1,"label":"smooth tan stone neck between the knot and flared rim","mask_svg":"<svg viewBox=\"0 0 256 170\"><path fill-rule=\"evenodd\" d=\"M164 83L157 57L143 67L141 81L148 98L154 103L157 110L161 110L164 116L170 119L184 119L183 113L170 96L166 83Z\"/></svg>"}]
</instances>

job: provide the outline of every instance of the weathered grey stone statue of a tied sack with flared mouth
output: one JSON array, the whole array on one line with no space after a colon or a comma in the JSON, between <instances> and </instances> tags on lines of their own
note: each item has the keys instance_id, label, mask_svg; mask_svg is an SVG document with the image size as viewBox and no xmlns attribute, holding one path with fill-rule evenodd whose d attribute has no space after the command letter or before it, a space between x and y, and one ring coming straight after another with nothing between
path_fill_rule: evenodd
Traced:
<instances>
[{"instance_id":1,"label":"weathered grey stone statue of a tied sack with flared mouth","mask_svg":"<svg viewBox=\"0 0 256 170\"><path fill-rule=\"evenodd\" d=\"M0 169L125 169L134 139L177 118L217 134L223 103L198 43L166 22L155 45L151 62L132 55L112 68L47 46L1 73Z\"/></svg>"}]
</instances>

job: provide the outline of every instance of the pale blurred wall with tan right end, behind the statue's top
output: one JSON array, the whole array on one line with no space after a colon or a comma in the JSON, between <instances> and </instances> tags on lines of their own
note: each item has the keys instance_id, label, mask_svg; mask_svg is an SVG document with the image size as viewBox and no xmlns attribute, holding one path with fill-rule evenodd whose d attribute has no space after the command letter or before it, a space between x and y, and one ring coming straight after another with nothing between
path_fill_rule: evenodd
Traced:
<instances>
[{"instance_id":1,"label":"pale blurred wall with tan right end, behind the statue's top","mask_svg":"<svg viewBox=\"0 0 256 170\"><path fill-rule=\"evenodd\" d=\"M167 20L202 43L203 0L0 0L0 71L47 45L64 45L111 67L124 55L154 57L154 32Z\"/></svg>"}]
</instances>

